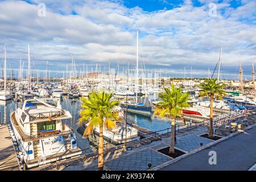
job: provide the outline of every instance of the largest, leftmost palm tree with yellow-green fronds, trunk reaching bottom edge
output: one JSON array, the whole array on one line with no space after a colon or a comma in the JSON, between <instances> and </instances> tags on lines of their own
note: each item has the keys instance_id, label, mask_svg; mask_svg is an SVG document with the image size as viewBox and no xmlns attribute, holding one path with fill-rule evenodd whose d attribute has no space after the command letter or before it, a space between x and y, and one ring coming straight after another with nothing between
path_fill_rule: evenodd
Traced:
<instances>
[{"instance_id":1,"label":"largest, leftmost palm tree with yellow-green fronds, trunk reaching bottom edge","mask_svg":"<svg viewBox=\"0 0 256 182\"><path fill-rule=\"evenodd\" d=\"M98 170L104 168L104 139L103 128L113 129L115 122L118 121L118 113L114 111L114 107L119 104L118 101L111 101L113 93L105 92L90 92L88 98L82 97L79 125L88 123L84 131L83 137L93 133L95 127L100 127L99 139L98 139Z\"/></svg>"}]
</instances>

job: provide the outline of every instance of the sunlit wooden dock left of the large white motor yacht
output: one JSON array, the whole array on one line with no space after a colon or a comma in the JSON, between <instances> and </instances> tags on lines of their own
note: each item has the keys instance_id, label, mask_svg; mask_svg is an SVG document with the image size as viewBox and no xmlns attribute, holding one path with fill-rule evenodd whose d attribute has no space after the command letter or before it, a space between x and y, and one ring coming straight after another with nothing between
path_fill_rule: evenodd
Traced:
<instances>
[{"instance_id":1,"label":"sunlit wooden dock left of the large white motor yacht","mask_svg":"<svg viewBox=\"0 0 256 182\"><path fill-rule=\"evenodd\" d=\"M19 171L18 159L7 125L0 125L0 171Z\"/></svg>"}]
</instances>

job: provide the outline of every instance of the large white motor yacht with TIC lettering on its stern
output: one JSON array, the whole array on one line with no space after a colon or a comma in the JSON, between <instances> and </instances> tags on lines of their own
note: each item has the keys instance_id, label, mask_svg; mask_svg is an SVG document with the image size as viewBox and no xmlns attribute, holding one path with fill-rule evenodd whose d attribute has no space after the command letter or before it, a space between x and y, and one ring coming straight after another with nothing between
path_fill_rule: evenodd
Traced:
<instances>
[{"instance_id":1,"label":"large white motor yacht with TIC lettering on its stern","mask_svg":"<svg viewBox=\"0 0 256 182\"><path fill-rule=\"evenodd\" d=\"M49 101L57 101L57 106ZM19 158L27 168L82 154L76 135L62 119L72 118L61 109L59 99L25 100L23 106L10 113L11 125L19 148Z\"/></svg>"}]
</instances>

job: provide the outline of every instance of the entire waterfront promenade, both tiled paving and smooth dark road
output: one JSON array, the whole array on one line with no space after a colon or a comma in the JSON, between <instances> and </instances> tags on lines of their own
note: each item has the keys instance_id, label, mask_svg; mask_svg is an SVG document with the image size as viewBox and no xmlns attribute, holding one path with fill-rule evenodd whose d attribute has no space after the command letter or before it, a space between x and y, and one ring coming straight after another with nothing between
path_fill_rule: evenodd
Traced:
<instances>
[{"instance_id":1,"label":"entire waterfront promenade, both tiled paving and smooth dark road","mask_svg":"<svg viewBox=\"0 0 256 182\"><path fill-rule=\"evenodd\" d=\"M251 129L233 133L217 141L200 137L200 135L207 133L207 128L204 125L179 130L176 133L177 143L175 148L185 152L185 154L176 159L159 152L162 148L170 146L170 136L165 134L162 135L161 140L133 147L132 150L106 151L104 167L110 171L142 171L147 170L147 164L151 163L152 168L149 170L248 170L256 162L255 126L256 124L250 125ZM208 154L212 150L217 152L217 165L209 165L208 163L210 157ZM54 164L56 168L51 166L51 168L43 167L38 169L64 171L97 170L97 156L95 158L79 158L76 160L75 163L67 161Z\"/></svg>"}]
</instances>

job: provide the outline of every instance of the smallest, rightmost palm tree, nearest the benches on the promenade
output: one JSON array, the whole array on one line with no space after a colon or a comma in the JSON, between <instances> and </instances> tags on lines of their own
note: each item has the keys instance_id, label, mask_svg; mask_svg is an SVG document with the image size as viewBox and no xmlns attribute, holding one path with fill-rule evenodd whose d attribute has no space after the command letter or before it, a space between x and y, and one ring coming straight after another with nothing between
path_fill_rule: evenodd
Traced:
<instances>
[{"instance_id":1,"label":"smallest, rightmost palm tree, nearest the benches on the promenade","mask_svg":"<svg viewBox=\"0 0 256 182\"><path fill-rule=\"evenodd\" d=\"M200 97L210 97L210 127L209 127L209 138L213 138L213 98L214 99L222 99L222 96L225 96L225 91L223 87L225 84L218 82L217 78L210 78L205 80L200 84L200 88L203 89L200 92Z\"/></svg>"}]
</instances>

